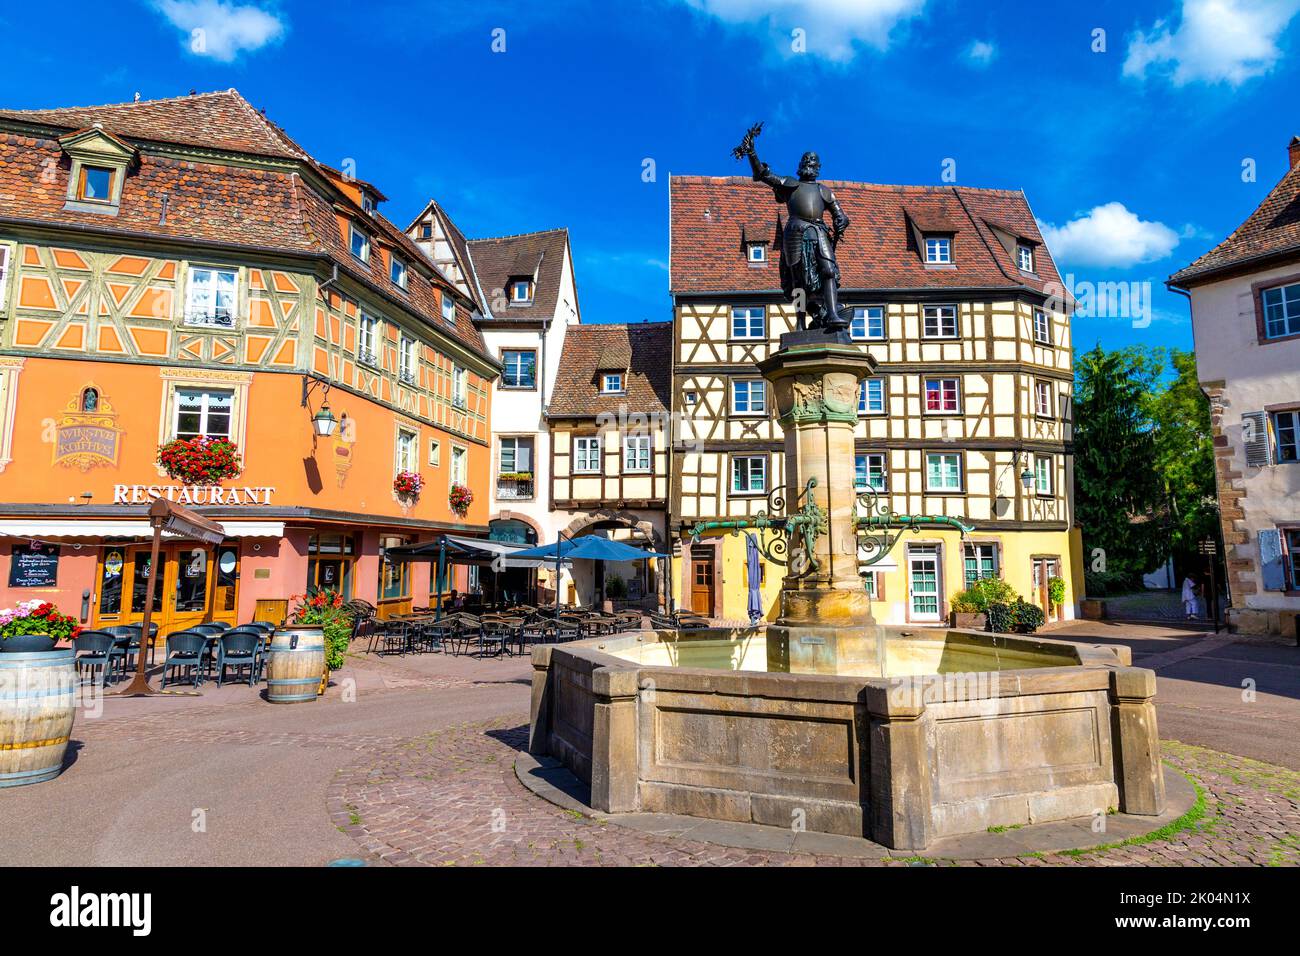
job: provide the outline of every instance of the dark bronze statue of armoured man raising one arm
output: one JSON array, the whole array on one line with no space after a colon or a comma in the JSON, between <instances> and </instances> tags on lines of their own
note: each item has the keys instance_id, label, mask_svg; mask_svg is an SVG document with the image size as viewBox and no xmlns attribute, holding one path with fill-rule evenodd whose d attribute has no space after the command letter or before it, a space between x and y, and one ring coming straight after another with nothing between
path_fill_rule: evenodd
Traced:
<instances>
[{"instance_id":1,"label":"dark bronze statue of armoured man raising one arm","mask_svg":"<svg viewBox=\"0 0 1300 956\"><path fill-rule=\"evenodd\" d=\"M781 235L781 291L800 307L800 328L805 313L812 328L842 332L849 319L840 312L840 265L835 247L849 228L849 217L827 186L816 181L822 161L815 152L803 153L798 178L777 176L766 163L759 161L754 138L763 124L753 126L740 146L733 150L736 159L749 157L755 182L772 187L776 200L785 203L789 217ZM831 211L831 226L823 216ZM802 295L797 295L802 290Z\"/></svg>"}]
</instances>

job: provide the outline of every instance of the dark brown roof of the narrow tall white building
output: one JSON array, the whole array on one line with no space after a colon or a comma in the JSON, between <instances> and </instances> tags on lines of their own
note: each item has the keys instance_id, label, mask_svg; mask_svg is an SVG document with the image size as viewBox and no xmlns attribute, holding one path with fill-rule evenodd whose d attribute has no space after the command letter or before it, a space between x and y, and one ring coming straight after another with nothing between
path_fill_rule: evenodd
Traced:
<instances>
[{"instance_id":1,"label":"dark brown roof of the narrow tall white building","mask_svg":"<svg viewBox=\"0 0 1300 956\"><path fill-rule=\"evenodd\" d=\"M568 229L469 239L467 245L491 319L550 319L555 315L568 254ZM510 302L510 281L524 277L534 280L533 300L517 306ZM506 304L497 308L503 299Z\"/></svg>"}]
</instances>

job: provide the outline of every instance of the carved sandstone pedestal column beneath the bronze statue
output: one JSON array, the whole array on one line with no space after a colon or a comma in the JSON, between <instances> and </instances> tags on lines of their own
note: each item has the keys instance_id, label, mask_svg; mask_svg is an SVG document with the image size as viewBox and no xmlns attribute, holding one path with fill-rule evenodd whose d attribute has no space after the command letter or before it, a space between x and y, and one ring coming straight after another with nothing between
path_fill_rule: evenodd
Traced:
<instances>
[{"instance_id":1,"label":"carved sandstone pedestal column beneath the bronze statue","mask_svg":"<svg viewBox=\"0 0 1300 956\"><path fill-rule=\"evenodd\" d=\"M798 334L798 333L794 333ZM812 501L826 516L824 533L812 553L803 553L796 536L790 545L790 574L781 589L779 624L853 627L871 623L871 601L858 576L854 528L854 429L858 388L876 362L846 337L802 333L783 343L759 371L772 386L777 420L785 432L785 514L798 512L809 479L816 479ZM815 570L797 574L802 562Z\"/></svg>"}]
</instances>

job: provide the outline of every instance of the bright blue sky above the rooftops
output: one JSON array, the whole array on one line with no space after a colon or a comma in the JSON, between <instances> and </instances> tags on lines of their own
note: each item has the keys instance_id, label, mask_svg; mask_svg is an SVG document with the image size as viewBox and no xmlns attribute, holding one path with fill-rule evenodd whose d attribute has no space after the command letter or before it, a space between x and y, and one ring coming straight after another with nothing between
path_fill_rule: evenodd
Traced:
<instances>
[{"instance_id":1,"label":"bright blue sky above the rooftops","mask_svg":"<svg viewBox=\"0 0 1300 956\"><path fill-rule=\"evenodd\" d=\"M429 196L472 237L567 225L586 321L671 317L668 174L742 172L764 120L780 169L815 148L828 178L939 183L950 160L1023 189L1063 273L1149 284L1149 324L1080 316L1076 345L1190 347L1164 280L1300 133L1300 0L64 0L58 29L13 7L0 104L237 87L400 225Z\"/></svg>"}]
</instances>

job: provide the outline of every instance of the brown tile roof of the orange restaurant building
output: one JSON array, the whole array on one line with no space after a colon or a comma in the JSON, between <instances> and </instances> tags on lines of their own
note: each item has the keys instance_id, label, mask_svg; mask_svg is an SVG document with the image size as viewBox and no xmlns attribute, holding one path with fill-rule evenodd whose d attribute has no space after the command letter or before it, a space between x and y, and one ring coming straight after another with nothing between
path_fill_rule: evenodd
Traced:
<instances>
[{"instance_id":1,"label":"brown tile roof of the orange restaurant building","mask_svg":"<svg viewBox=\"0 0 1300 956\"><path fill-rule=\"evenodd\" d=\"M187 111L194 114L187 117ZM230 121L229 129L209 129L224 120ZM29 134L16 130L12 122L53 130L48 135ZM79 130L92 122L133 144L190 146L191 139L203 139L192 144L294 159L295 165L289 169L228 165L199 156L181 160L140 150L124 181L116 216L66 209L72 164L58 137L65 135L64 129ZM56 170L53 182L46 182L47 169ZM380 250L396 250L408 263L428 264L420 247L378 212L364 213L344 193L328 185L329 179L328 168L302 152L233 90L116 107L0 111L0 219L324 256L337 263L341 272L407 303L426 325L484 352L482 337L467 310L458 308L455 328L441 317L436 281L412 268L408 290L393 284L387 256L380 255ZM339 216L355 220L370 234L369 263L351 255Z\"/></svg>"}]
</instances>

